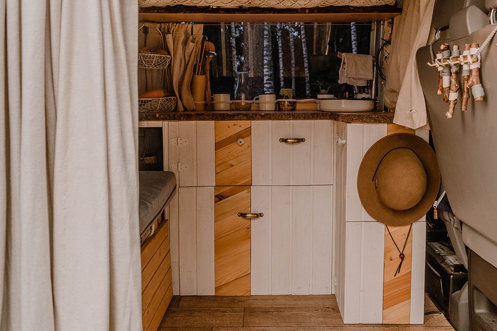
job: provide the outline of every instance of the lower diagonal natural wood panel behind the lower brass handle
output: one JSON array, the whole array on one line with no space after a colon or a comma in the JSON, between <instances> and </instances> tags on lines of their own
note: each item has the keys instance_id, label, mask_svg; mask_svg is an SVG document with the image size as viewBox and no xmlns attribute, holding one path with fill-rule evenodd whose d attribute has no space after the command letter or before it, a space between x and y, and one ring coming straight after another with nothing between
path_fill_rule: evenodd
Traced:
<instances>
[{"instance_id":1,"label":"lower diagonal natural wood panel behind the lower brass handle","mask_svg":"<svg viewBox=\"0 0 497 331\"><path fill-rule=\"evenodd\" d=\"M214 194L215 294L249 295L250 220L237 214L250 212L250 187L216 186Z\"/></svg>"}]
</instances>

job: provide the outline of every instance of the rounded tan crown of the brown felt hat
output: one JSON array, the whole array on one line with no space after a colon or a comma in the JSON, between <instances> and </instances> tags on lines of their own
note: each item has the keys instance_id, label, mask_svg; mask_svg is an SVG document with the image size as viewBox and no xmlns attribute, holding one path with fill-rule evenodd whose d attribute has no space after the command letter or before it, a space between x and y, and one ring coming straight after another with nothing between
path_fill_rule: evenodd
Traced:
<instances>
[{"instance_id":1,"label":"rounded tan crown of the brown felt hat","mask_svg":"<svg viewBox=\"0 0 497 331\"><path fill-rule=\"evenodd\" d=\"M426 192L427 176L417 155L409 148L397 148L385 155L375 177L376 194L393 210L413 208Z\"/></svg>"}]
</instances>

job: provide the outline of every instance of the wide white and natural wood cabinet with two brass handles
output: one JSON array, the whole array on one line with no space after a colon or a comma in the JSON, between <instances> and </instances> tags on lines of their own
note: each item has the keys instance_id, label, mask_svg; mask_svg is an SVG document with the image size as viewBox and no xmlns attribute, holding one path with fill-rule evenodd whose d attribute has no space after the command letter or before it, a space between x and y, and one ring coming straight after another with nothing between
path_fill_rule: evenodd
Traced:
<instances>
[{"instance_id":1,"label":"wide white and natural wood cabinet with two brass handles","mask_svg":"<svg viewBox=\"0 0 497 331\"><path fill-rule=\"evenodd\" d=\"M167 215L174 294L331 294L332 121L148 123L162 126L178 178Z\"/></svg>"}]
</instances>

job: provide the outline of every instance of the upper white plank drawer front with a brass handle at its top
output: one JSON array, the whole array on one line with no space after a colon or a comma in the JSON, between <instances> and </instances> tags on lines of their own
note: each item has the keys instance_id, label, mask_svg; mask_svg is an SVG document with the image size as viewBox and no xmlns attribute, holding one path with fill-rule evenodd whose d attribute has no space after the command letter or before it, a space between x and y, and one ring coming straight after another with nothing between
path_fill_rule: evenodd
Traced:
<instances>
[{"instance_id":1,"label":"upper white plank drawer front with a brass handle at its top","mask_svg":"<svg viewBox=\"0 0 497 331\"><path fill-rule=\"evenodd\" d=\"M333 121L252 121L251 127L252 185L333 184Z\"/></svg>"}]
</instances>

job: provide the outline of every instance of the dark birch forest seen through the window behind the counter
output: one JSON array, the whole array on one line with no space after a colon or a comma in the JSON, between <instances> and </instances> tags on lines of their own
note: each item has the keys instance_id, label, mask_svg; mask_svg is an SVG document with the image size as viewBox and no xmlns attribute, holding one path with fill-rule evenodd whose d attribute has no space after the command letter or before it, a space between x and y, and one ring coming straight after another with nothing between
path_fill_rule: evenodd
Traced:
<instances>
[{"instance_id":1,"label":"dark birch forest seen through the window behind the counter","mask_svg":"<svg viewBox=\"0 0 497 331\"><path fill-rule=\"evenodd\" d=\"M371 24L216 23L203 34L216 46L212 92L230 92L239 67L249 68L252 97L293 88L298 98L321 90L340 95L338 52L370 54Z\"/></svg>"}]
</instances>

